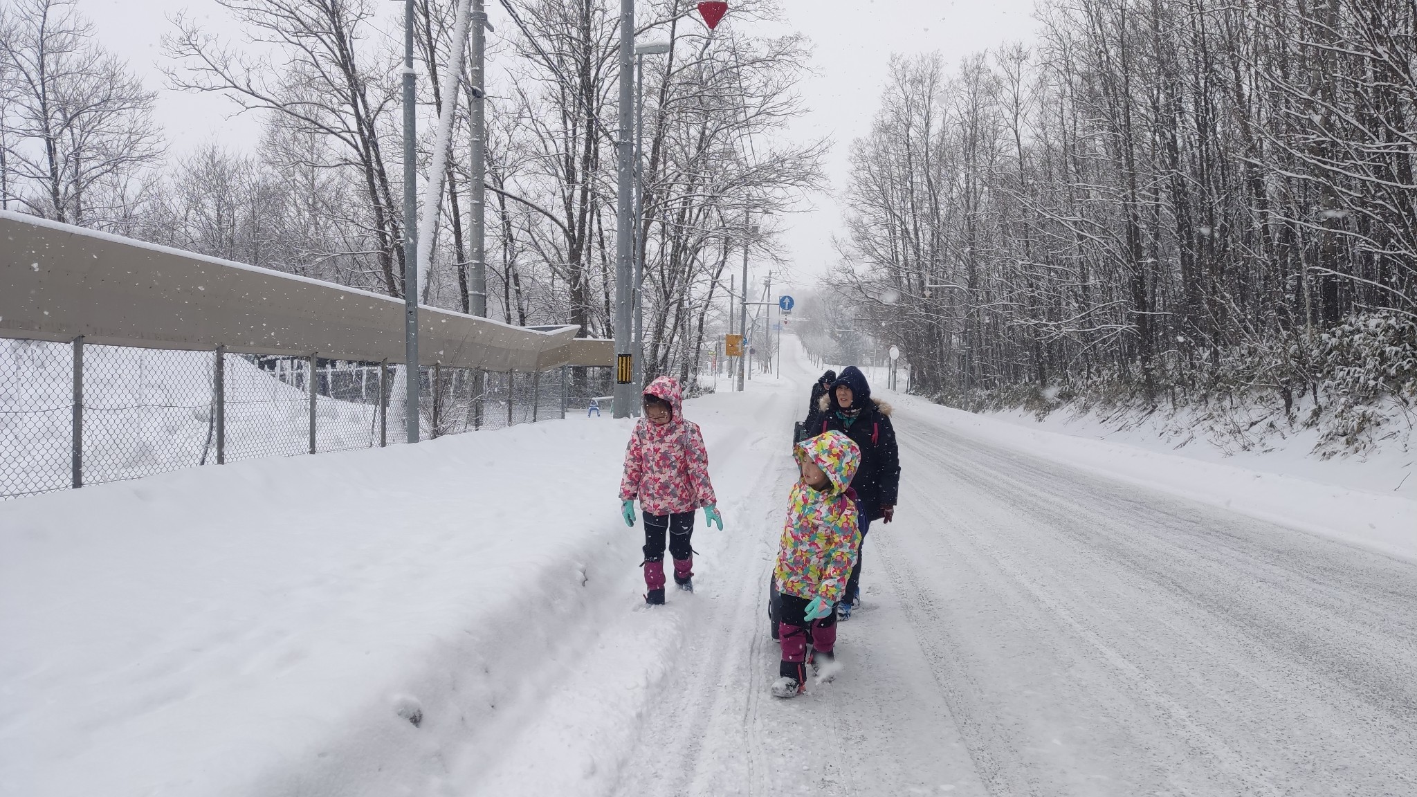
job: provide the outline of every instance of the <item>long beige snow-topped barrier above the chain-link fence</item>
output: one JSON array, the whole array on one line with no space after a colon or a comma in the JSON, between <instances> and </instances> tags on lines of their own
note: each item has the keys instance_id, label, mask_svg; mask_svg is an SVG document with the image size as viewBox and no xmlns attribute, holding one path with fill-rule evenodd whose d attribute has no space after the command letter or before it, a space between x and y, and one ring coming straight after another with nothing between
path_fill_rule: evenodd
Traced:
<instances>
[{"instance_id":1,"label":"long beige snow-topped barrier above the chain-link fence","mask_svg":"<svg viewBox=\"0 0 1417 797\"><path fill-rule=\"evenodd\" d=\"M424 366L609 366L609 340L421 306ZM404 302L0 211L0 336L404 362Z\"/></svg>"}]
</instances>

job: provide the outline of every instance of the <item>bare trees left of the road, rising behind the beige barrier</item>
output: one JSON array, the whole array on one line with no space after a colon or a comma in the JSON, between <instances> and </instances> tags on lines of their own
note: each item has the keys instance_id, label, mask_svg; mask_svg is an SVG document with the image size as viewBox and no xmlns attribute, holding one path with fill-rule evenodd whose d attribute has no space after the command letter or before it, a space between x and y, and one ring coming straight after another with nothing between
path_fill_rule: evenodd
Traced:
<instances>
[{"instance_id":1,"label":"bare trees left of the road, rising behind the beige barrier","mask_svg":"<svg viewBox=\"0 0 1417 797\"><path fill-rule=\"evenodd\" d=\"M255 115L256 142L213 132L173 155L153 87L103 51L82 0L0 4L0 201L18 210L401 296L401 4L215 0L231 24L177 17L166 88L218 94ZM418 0L419 153L432 162L452 0ZM614 335L618 3L507 0L486 79L487 315ZM687 376L713 352L733 252L775 252L769 225L822 186L825 143L778 135L808 44L751 35L772 13L734 3L708 31L687 0L638 11L645 60L643 228L648 377ZM479 81L480 82L480 81ZM461 91L475 85L465 67ZM466 96L422 301L468 312L472 207ZM190 130L181 132L191 138ZM186 142L184 142L186 145Z\"/></svg>"}]
</instances>

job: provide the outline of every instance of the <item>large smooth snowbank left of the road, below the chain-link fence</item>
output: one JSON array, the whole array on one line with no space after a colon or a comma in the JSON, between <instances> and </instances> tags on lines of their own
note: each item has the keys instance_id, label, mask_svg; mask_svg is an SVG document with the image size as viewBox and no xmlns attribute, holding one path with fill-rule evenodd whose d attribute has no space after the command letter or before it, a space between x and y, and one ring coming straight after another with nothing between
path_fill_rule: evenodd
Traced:
<instances>
[{"instance_id":1,"label":"large smooth snowbank left of the road, below the chain-link fence","mask_svg":"<svg viewBox=\"0 0 1417 797\"><path fill-rule=\"evenodd\" d=\"M635 597L626 434L577 418L0 503L0 793L434 793L574 667L585 606Z\"/></svg>"}]
</instances>

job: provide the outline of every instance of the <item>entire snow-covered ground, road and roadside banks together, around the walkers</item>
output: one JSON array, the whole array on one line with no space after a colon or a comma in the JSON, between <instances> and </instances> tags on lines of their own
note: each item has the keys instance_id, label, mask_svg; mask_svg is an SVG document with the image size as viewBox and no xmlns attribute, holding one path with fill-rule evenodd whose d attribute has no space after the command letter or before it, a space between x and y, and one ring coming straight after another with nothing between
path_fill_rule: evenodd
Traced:
<instances>
[{"instance_id":1,"label":"entire snow-covered ground, road and roadside banks together, around the walkers","mask_svg":"<svg viewBox=\"0 0 1417 797\"><path fill-rule=\"evenodd\" d=\"M1417 503L908 397L845 669L769 696L785 342L686 404L663 607L608 417L0 503L0 797L1417 794Z\"/></svg>"}]
</instances>

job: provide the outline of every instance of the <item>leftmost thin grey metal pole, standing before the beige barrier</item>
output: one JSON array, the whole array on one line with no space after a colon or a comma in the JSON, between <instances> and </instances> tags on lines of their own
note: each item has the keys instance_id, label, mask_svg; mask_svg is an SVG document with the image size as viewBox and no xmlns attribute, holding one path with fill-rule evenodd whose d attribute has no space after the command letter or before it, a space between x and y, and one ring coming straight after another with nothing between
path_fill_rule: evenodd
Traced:
<instances>
[{"instance_id":1,"label":"leftmost thin grey metal pole, standing before the beige barrier","mask_svg":"<svg viewBox=\"0 0 1417 797\"><path fill-rule=\"evenodd\" d=\"M404 427L418 442L418 109L414 106L414 0L404 0Z\"/></svg>"}]
</instances>

